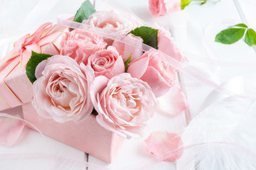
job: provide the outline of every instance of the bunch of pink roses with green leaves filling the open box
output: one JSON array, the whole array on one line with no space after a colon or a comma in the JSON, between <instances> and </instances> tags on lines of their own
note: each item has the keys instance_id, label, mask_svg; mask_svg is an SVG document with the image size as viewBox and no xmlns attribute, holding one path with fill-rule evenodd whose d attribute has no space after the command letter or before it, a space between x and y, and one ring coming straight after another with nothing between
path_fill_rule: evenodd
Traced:
<instances>
[{"instance_id":1,"label":"bunch of pink roses with green leaves filling the open box","mask_svg":"<svg viewBox=\"0 0 256 170\"><path fill-rule=\"evenodd\" d=\"M102 127L130 138L142 137L156 98L166 96L176 113L187 108L175 82L177 70L165 55L178 61L183 57L167 30L142 26L115 11L95 11L90 1L82 4L74 21L122 38L112 40L86 28L67 30L59 55L32 52L26 71L39 115L79 123L92 113ZM143 52L143 43L152 48Z\"/></svg>"}]
</instances>

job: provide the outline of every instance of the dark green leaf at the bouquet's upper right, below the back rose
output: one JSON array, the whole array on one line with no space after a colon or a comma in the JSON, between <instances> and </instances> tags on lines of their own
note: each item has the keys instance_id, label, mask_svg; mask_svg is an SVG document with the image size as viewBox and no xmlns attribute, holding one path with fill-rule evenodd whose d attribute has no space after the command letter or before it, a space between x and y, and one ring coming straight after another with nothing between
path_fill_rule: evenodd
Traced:
<instances>
[{"instance_id":1,"label":"dark green leaf at the bouquet's upper right, below the back rose","mask_svg":"<svg viewBox=\"0 0 256 170\"><path fill-rule=\"evenodd\" d=\"M155 49L158 49L158 47L157 47L158 31L159 30L156 30L154 28L142 26L139 28L135 28L130 33L141 37L143 39L144 44L149 45L150 47L154 47Z\"/></svg>"}]
</instances>

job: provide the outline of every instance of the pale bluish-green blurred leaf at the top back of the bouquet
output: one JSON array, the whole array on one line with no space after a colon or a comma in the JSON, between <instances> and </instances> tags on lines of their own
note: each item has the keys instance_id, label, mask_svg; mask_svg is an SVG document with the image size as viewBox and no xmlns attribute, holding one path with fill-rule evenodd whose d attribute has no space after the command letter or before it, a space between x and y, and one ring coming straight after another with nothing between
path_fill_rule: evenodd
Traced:
<instances>
[{"instance_id":1,"label":"pale bluish-green blurred leaf at the top back of the bouquet","mask_svg":"<svg viewBox=\"0 0 256 170\"><path fill-rule=\"evenodd\" d=\"M88 19L92 13L94 13L96 10L92 3L87 0L82 3L80 8L78 9L77 13L75 13L75 22L82 23L83 20Z\"/></svg>"}]
</instances>

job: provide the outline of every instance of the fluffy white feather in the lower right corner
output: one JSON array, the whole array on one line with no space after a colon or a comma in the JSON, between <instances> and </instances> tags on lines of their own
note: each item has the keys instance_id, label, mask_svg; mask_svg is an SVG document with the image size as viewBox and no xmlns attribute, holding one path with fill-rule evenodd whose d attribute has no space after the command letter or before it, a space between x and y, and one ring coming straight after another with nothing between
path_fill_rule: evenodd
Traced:
<instances>
[{"instance_id":1,"label":"fluffy white feather in the lower right corner","mask_svg":"<svg viewBox=\"0 0 256 170\"><path fill-rule=\"evenodd\" d=\"M177 169L256 169L256 102L225 98L194 118Z\"/></svg>"}]
</instances>

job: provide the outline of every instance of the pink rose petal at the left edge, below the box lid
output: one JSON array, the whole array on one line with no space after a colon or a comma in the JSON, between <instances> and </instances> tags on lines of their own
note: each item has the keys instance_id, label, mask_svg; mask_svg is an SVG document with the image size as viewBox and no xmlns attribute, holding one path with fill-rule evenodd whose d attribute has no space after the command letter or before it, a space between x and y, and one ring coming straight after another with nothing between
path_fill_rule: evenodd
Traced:
<instances>
[{"instance_id":1,"label":"pink rose petal at the left edge, below the box lid","mask_svg":"<svg viewBox=\"0 0 256 170\"><path fill-rule=\"evenodd\" d=\"M21 120L6 118L0 120L0 145L4 147L13 146L24 128Z\"/></svg>"}]
</instances>

